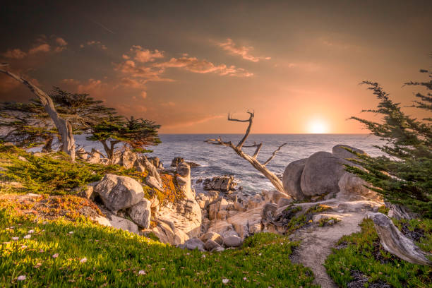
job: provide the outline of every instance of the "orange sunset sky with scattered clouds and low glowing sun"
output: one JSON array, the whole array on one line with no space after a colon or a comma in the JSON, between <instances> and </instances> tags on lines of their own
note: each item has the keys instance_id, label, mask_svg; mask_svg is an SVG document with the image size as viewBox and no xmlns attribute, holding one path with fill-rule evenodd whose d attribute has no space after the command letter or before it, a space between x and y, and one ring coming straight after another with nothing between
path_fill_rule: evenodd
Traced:
<instances>
[{"instance_id":1,"label":"orange sunset sky with scattered clouds and low glowing sun","mask_svg":"<svg viewBox=\"0 0 432 288\"><path fill-rule=\"evenodd\" d=\"M157 2L157 3L156 3ZM431 1L4 1L0 62L88 93L160 133L368 133L350 116L409 105L431 68ZM33 97L0 75L0 100ZM407 113L417 115L407 108Z\"/></svg>"}]
</instances>

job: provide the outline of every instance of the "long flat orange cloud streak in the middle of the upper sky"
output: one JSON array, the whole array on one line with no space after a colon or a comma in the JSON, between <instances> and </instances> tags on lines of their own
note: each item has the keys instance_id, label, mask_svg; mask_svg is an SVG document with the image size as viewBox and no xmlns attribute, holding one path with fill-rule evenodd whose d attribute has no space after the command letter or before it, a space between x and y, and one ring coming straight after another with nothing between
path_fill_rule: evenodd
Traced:
<instances>
[{"instance_id":1,"label":"long flat orange cloud streak in the middle of the upper sky","mask_svg":"<svg viewBox=\"0 0 432 288\"><path fill-rule=\"evenodd\" d=\"M236 68L236 66L227 66L225 64L215 66L210 61L199 60L196 57L172 58L167 62L155 64L155 66L162 68L183 68L193 73L216 73L220 76L253 76L253 73L248 73L244 68Z\"/></svg>"}]
</instances>

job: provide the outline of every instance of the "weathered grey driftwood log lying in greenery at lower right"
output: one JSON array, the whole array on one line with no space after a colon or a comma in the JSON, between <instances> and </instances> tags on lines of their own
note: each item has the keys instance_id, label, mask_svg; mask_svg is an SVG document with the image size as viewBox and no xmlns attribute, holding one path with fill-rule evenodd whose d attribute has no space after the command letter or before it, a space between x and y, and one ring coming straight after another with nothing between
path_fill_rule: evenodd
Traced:
<instances>
[{"instance_id":1,"label":"weathered grey driftwood log lying in greenery at lower right","mask_svg":"<svg viewBox=\"0 0 432 288\"><path fill-rule=\"evenodd\" d=\"M421 251L414 241L404 236L404 234L397 229L390 217L382 213L376 213L372 216L372 220L385 251L409 263L432 265L432 261L429 260L432 254Z\"/></svg>"}]
</instances>

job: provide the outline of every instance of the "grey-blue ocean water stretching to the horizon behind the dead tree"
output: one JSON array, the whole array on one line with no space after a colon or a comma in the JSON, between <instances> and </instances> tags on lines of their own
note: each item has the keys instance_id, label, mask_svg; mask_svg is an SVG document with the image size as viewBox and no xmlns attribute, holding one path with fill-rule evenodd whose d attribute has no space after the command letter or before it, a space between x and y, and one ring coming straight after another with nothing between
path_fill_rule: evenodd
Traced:
<instances>
[{"instance_id":1,"label":"grey-blue ocean water stretching to the horizon behind the dead tree","mask_svg":"<svg viewBox=\"0 0 432 288\"><path fill-rule=\"evenodd\" d=\"M260 193L273 188L268 179L249 162L236 155L232 148L204 142L218 136L224 141L238 143L243 134L161 134L162 144L150 147L153 152L149 153L149 156L159 157L165 168L169 167L174 157L184 157L186 161L200 164L200 167L191 170L193 187L197 191L202 191L202 186L195 184L196 179L221 175L233 175L239 181L238 186L242 186L246 193ZM90 151L95 147L103 151L102 145L86 141L85 136L77 136L76 142L84 145L85 150ZM359 148L372 156L381 155L380 150L373 148L373 145L381 141L368 134L251 134L246 143L253 142L263 143L258 155L261 163L265 162L279 145L287 143L267 165L275 174L283 174L290 162L309 157L314 152L331 152L332 147L337 144ZM252 155L255 148L244 148L244 151Z\"/></svg>"}]
</instances>

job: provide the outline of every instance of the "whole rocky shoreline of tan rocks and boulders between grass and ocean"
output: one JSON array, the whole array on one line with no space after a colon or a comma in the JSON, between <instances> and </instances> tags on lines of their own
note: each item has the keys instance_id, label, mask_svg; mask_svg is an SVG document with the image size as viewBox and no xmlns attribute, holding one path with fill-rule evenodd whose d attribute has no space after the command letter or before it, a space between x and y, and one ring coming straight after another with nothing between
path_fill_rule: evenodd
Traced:
<instances>
[{"instance_id":1,"label":"whole rocky shoreline of tan rocks and boulders between grass and ocean","mask_svg":"<svg viewBox=\"0 0 432 288\"><path fill-rule=\"evenodd\" d=\"M289 221L302 215L311 218L309 224L323 223L330 216L328 212L309 213L315 205L326 205L336 214L330 224L336 224L343 218L337 215L344 213L360 212L366 217L366 212L378 211L382 200L364 181L344 170L344 164L354 164L349 159L356 157L345 148L364 153L347 145L336 145L332 153L316 152L287 165L282 176L285 193L263 191L252 196L237 188L234 176L198 179L205 191L196 193L191 186L191 164L183 158L174 158L171 166L175 169L163 169L157 157L148 160L126 150L118 163L148 171L145 184L107 174L80 195L99 203L107 215L97 217L101 224L138 234L151 232L160 241L180 248L223 251L241 246L246 237L258 232L287 234ZM143 187L163 191L160 173L174 177L181 197L164 203L156 197L145 198Z\"/></svg>"}]
</instances>

